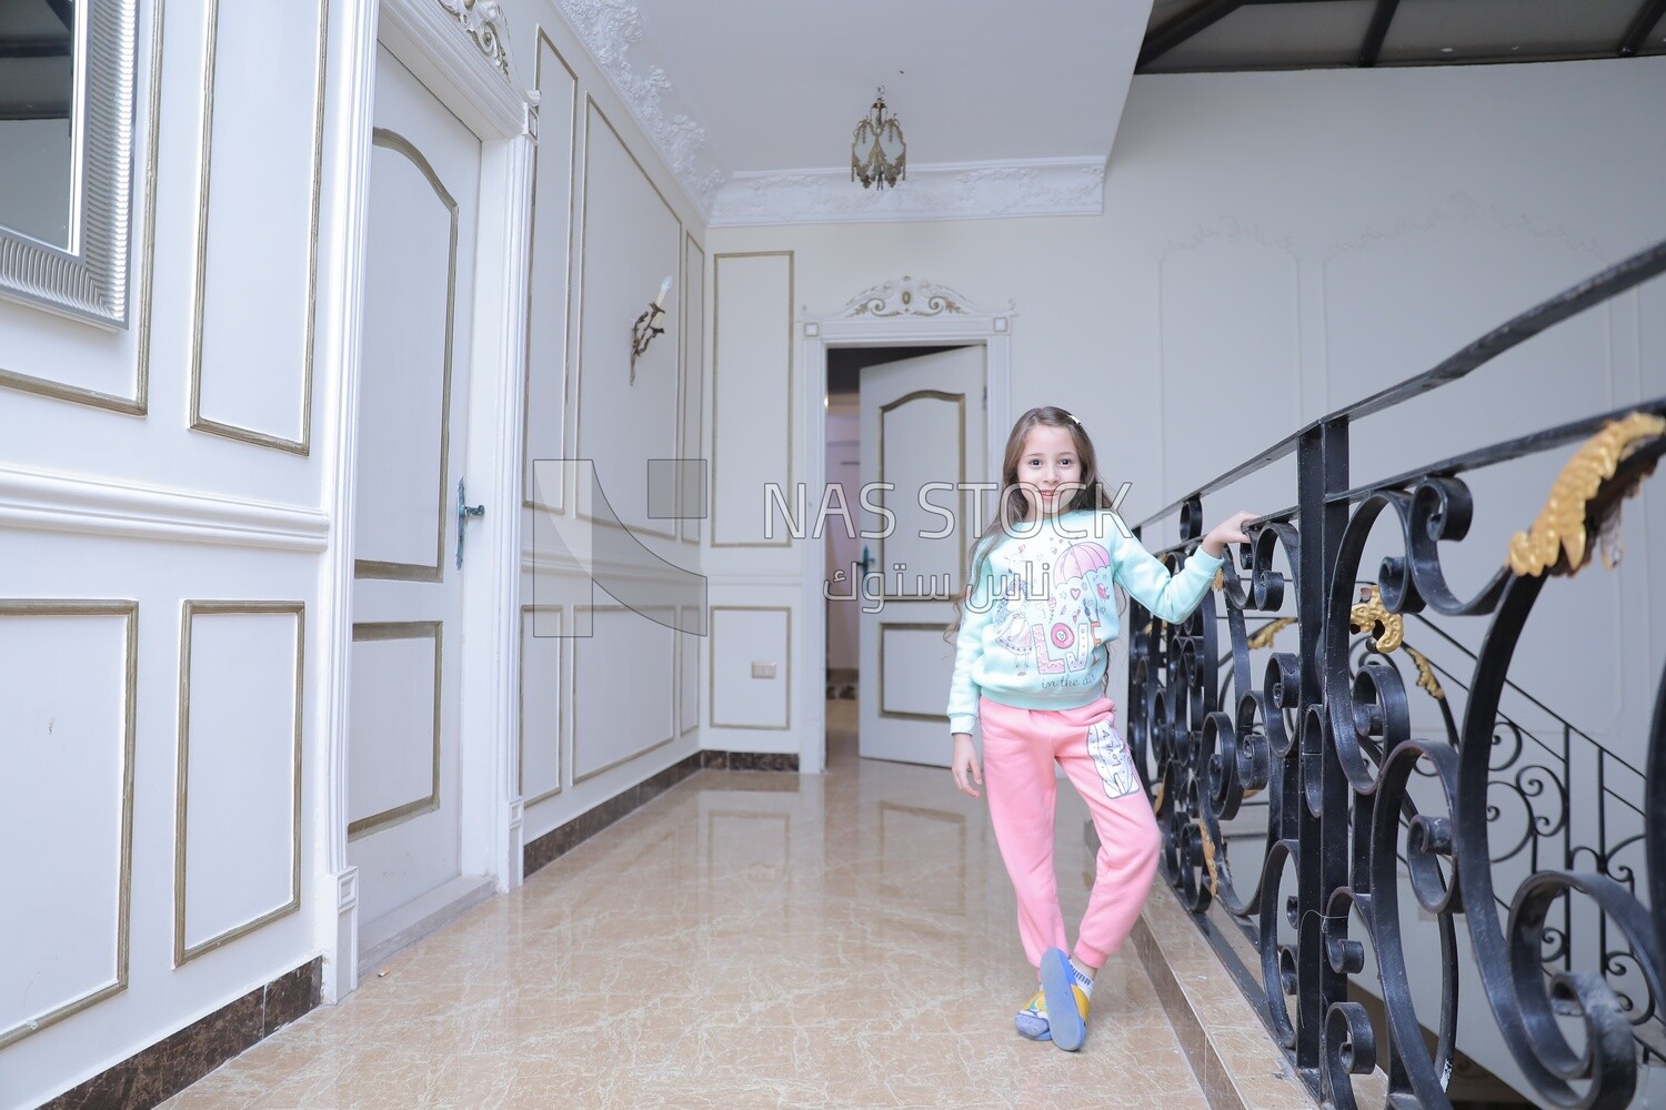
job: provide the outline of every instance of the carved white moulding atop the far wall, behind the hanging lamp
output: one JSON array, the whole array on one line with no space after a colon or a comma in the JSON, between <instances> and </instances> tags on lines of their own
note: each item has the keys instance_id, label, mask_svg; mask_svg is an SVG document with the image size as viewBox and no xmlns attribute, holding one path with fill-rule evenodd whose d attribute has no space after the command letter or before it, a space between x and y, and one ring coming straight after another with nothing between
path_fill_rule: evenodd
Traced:
<instances>
[{"instance_id":1,"label":"carved white moulding atop the far wall, behind the hanging lamp","mask_svg":"<svg viewBox=\"0 0 1666 1110\"><path fill-rule=\"evenodd\" d=\"M1098 216L1105 156L908 166L908 181L875 193L850 170L736 173L711 201L711 226Z\"/></svg>"}]
</instances>

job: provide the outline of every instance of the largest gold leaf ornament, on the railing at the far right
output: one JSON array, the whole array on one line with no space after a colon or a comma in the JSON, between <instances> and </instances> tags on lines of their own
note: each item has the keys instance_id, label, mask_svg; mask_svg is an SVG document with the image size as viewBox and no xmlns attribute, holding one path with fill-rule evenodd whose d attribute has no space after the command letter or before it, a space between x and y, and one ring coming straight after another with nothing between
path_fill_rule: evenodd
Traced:
<instances>
[{"instance_id":1,"label":"largest gold leaf ornament, on the railing at the far right","mask_svg":"<svg viewBox=\"0 0 1666 1110\"><path fill-rule=\"evenodd\" d=\"M1509 539L1508 566L1514 574L1544 574L1554 571L1566 553L1566 574L1576 574L1591 557L1586 534L1586 518L1591 501L1603 484L1614 476L1619 464L1646 443L1666 434L1666 418L1651 413L1633 413L1624 419L1609 421L1568 459L1568 466L1551 483L1549 498L1539 509L1533 528ZM1653 463L1641 471L1629 489L1621 491L1601 519L1594 521L1603 566L1609 571L1619 566L1619 503L1633 496L1643 479L1653 473Z\"/></svg>"}]
</instances>

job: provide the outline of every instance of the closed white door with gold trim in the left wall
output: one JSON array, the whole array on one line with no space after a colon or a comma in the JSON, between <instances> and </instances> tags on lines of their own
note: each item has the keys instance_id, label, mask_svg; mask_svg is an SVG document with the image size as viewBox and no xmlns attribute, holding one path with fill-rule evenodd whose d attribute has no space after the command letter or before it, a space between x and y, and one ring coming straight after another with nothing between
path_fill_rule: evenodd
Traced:
<instances>
[{"instance_id":1,"label":"closed white door with gold trim in the left wall","mask_svg":"<svg viewBox=\"0 0 1666 1110\"><path fill-rule=\"evenodd\" d=\"M456 508L478 191L480 140L378 48L348 732L367 949L460 875Z\"/></svg>"}]
</instances>

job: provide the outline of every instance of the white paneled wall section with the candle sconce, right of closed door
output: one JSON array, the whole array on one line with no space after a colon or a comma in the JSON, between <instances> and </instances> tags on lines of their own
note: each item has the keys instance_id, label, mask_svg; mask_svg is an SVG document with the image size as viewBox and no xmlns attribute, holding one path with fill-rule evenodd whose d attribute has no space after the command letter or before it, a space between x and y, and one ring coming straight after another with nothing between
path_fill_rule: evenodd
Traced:
<instances>
[{"instance_id":1,"label":"white paneled wall section with the candle sconce, right of closed door","mask_svg":"<svg viewBox=\"0 0 1666 1110\"><path fill-rule=\"evenodd\" d=\"M698 592L670 586L698 569L703 523L666 518L661 506L650 514L648 461L703 454L708 298L703 218L573 30L546 0L505 8L525 28L523 72L541 97L521 529L521 597L533 609L523 611L518 664L531 842L701 742L706 641L668 624L701 624ZM631 321L666 276L665 333L633 379ZM575 491L571 471L541 486L538 459L593 461L605 503ZM628 596L596 587L591 571Z\"/></svg>"}]
</instances>

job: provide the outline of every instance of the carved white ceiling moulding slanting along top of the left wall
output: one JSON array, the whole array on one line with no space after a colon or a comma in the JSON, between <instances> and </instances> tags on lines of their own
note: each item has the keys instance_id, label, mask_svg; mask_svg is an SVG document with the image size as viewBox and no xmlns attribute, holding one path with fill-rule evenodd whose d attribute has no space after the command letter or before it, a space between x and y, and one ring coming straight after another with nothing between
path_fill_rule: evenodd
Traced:
<instances>
[{"instance_id":1,"label":"carved white ceiling moulding slanting along top of the left wall","mask_svg":"<svg viewBox=\"0 0 1666 1110\"><path fill-rule=\"evenodd\" d=\"M641 12L623 0L558 0L558 7L700 215L710 215L726 175L711 153L706 128L695 121L666 77Z\"/></svg>"}]
</instances>

